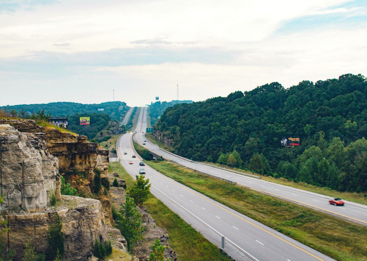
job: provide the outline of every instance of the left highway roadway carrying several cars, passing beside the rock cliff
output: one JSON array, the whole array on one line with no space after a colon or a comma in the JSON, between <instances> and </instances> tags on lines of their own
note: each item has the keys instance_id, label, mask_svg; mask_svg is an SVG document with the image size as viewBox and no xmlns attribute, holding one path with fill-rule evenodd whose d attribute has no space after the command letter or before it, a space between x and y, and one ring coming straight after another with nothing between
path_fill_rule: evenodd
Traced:
<instances>
[{"instance_id":1,"label":"left highway roadway carrying several cars, passing beside the rock cliff","mask_svg":"<svg viewBox=\"0 0 367 261\"><path fill-rule=\"evenodd\" d=\"M333 260L318 251L293 240L245 215L234 211L203 194L172 180L149 166L139 166L141 159L135 154L132 138L144 138L146 107L139 112L137 133L121 135L117 141L117 154L121 165L135 178L140 168L152 184L150 191L172 211L210 242L221 246L225 236L225 251L236 260ZM146 143L148 144L148 143ZM124 155L127 152L127 155ZM132 161L134 164L128 164Z\"/></svg>"}]
</instances>

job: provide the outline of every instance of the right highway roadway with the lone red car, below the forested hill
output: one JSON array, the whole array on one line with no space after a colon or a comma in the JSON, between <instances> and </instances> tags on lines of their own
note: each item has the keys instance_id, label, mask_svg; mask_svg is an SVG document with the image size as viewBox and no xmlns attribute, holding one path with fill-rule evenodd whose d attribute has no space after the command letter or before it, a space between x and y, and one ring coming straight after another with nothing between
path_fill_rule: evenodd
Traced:
<instances>
[{"instance_id":1,"label":"right highway roadway with the lone red car, below the forested hill","mask_svg":"<svg viewBox=\"0 0 367 261\"><path fill-rule=\"evenodd\" d=\"M145 127L143 126L143 131L144 130ZM145 131L144 133L137 133L135 136L137 141L142 145L143 140L145 139ZM259 180L257 178L252 178L245 175L233 173L230 171L221 170L207 165L201 165L194 162L190 162L188 160L182 159L182 157L172 155L171 153L161 150L157 145L152 144L149 140L147 140L145 143L146 145L143 146L145 146L153 153L163 156L165 159L170 159L174 162L177 162L185 167L193 168L206 174L211 174L217 177L225 178L227 180L237 182L237 184L239 185L246 186L248 188L263 193L267 193L272 196L276 196L297 204L302 204L304 206L311 207L313 209L320 210L325 213L345 218L347 220L354 221L357 222L358 224L367 226L366 205L357 204L354 202L344 200L345 202L344 206L334 206L328 203L328 200L331 197L264 180Z\"/></svg>"}]
</instances>

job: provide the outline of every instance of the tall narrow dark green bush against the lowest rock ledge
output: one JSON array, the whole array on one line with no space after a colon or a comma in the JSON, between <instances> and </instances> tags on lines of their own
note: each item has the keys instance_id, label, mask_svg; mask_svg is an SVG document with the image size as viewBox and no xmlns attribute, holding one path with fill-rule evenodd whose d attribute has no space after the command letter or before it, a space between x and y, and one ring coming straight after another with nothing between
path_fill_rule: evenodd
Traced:
<instances>
[{"instance_id":1,"label":"tall narrow dark green bush against the lowest rock ledge","mask_svg":"<svg viewBox=\"0 0 367 261\"><path fill-rule=\"evenodd\" d=\"M64 233L62 230L62 221L61 218L56 214L55 215L55 222L49 225L48 232L47 232L47 258L49 260L54 260L57 255L63 257L64 255Z\"/></svg>"}]
</instances>

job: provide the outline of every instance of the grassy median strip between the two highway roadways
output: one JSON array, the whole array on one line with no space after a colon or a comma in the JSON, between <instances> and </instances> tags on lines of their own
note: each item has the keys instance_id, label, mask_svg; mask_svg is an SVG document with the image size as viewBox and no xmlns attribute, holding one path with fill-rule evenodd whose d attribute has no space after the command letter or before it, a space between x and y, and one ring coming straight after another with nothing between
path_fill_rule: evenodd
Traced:
<instances>
[{"instance_id":1,"label":"grassy median strip between the two highway roadways","mask_svg":"<svg viewBox=\"0 0 367 261\"><path fill-rule=\"evenodd\" d=\"M367 227L217 180L172 162L146 162L167 177L211 197L336 260L366 258Z\"/></svg>"}]
</instances>

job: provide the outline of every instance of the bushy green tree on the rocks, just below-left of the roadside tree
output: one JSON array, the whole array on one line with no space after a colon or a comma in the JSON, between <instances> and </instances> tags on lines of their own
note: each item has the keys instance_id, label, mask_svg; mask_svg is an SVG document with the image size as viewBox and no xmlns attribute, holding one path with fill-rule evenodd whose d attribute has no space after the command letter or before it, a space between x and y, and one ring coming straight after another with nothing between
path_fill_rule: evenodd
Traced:
<instances>
[{"instance_id":1,"label":"bushy green tree on the rocks, just below-left of the roadside tree","mask_svg":"<svg viewBox=\"0 0 367 261\"><path fill-rule=\"evenodd\" d=\"M121 203L121 208L115 213L116 227L120 230L127 242L127 249L134 252L134 245L143 239L144 228L141 226L141 214L135 208L134 199L126 196L126 202Z\"/></svg>"}]
</instances>

